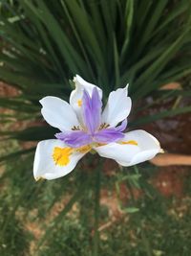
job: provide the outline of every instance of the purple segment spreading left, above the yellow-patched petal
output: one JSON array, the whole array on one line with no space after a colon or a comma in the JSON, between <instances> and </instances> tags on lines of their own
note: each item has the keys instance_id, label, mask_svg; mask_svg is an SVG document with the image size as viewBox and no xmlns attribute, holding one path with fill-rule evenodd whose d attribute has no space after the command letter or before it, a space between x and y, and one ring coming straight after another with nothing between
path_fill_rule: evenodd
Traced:
<instances>
[{"instance_id":1,"label":"purple segment spreading left, above the yellow-patched petal","mask_svg":"<svg viewBox=\"0 0 191 256\"><path fill-rule=\"evenodd\" d=\"M72 148L82 147L93 142L90 134L84 132L83 130L59 132L55 134L55 137Z\"/></svg>"}]
</instances>

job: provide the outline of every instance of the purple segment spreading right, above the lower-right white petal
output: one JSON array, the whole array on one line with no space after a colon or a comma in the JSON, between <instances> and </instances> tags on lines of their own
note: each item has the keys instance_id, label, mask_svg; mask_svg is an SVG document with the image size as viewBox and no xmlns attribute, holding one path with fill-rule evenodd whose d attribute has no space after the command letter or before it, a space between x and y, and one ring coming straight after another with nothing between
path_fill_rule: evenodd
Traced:
<instances>
[{"instance_id":1,"label":"purple segment spreading right, above the lower-right white petal","mask_svg":"<svg viewBox=\"0 0 191 256\"><path fill-rule=\"evenodd\" d=\"M124 138L124 134L117 131L116 128L103 128L96 132L94 141L98 143L111 143Z\"/></svg>"}]
</instances>

